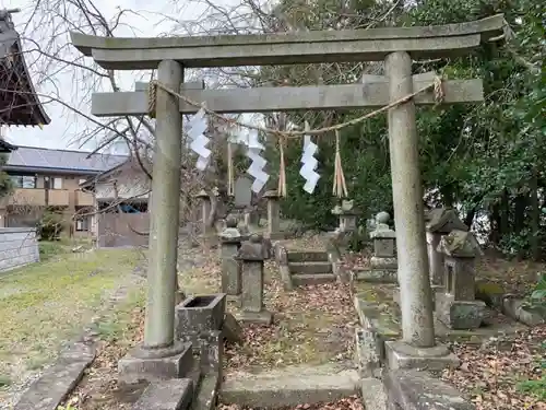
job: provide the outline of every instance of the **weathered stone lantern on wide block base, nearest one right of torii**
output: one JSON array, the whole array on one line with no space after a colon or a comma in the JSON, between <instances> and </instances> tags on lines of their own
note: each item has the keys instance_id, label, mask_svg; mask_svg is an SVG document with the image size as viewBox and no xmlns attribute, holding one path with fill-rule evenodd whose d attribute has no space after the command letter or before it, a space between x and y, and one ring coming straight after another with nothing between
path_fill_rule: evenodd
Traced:
<instances>
[{"instance_id":1,"label":"weathered stone lantern on wide block base, nearest one right of torii","mask_svg":"<svg viewBox=\"0 0 546 410\"><path fill-rule=\"evenodd\" d=\"M436 295L438 320L451 329L477 329L486 317L486 305L475 300L474 262L479 245L470 232L452 231L438 251L444 256L444 292Z\"/></svg>"}]
</instances>

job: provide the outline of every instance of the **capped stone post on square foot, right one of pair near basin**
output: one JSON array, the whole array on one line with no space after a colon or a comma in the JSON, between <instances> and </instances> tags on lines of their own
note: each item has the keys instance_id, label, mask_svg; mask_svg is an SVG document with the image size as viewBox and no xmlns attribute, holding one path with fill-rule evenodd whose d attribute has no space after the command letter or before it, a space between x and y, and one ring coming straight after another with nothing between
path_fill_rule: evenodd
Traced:
<instances>
[{"instance_id":1,"label":"capped stone post on square foot, right one of pair near basin","mask_svg":"<svg viewBox=\"0 0 546 410\"><path fill-rule=\"evenodd\" d=\"M268 258L260 235L253 234L241 244L237 259L242 263L241 314L239 320L270 325L273 316L263 305L263 265Z\"/></svg>"}]
</instances>

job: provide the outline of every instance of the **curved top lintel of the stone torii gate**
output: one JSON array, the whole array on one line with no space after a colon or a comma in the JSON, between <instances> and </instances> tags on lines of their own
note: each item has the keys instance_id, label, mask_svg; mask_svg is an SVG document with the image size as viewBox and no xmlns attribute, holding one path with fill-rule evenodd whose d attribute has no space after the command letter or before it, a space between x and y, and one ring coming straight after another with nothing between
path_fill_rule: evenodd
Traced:
<instances>
[{"instance_id":1,"label":"curved top lintel of the stone torii gate","mask_svg":"<svg viewBox=\"0 0 546 410\"><path fill-rule=\"evenodd\" d=\"M71 33L72 44L105 69L155 69L162 60L185 67L235 67L341 61L380 61L393 51L414 59L467 54L499 37L502 14L426 27L384 27L204 37L97 37Z\"/></svg>"}]
</instances>

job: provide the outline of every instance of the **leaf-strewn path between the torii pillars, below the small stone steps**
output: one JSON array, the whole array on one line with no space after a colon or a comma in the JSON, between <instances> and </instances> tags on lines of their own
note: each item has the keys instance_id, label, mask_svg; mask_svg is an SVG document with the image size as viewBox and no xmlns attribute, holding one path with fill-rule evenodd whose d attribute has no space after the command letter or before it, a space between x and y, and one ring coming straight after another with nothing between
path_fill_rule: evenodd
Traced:
<instances>
[{"instance_id":1,"label":"leaf-strewn path between the torii pillars, below the small stone steps","mask_svg":"<svg viewBox=\"0 0 546 410\"><path fill-rule=\"evenodd\" d=\"M348 361L357 324L351 288L325 283L287 292L272 263L266 263L264 298L274 321L244 326L244 344L226 347L226 368Z\"/></svg>"}]
</instances>

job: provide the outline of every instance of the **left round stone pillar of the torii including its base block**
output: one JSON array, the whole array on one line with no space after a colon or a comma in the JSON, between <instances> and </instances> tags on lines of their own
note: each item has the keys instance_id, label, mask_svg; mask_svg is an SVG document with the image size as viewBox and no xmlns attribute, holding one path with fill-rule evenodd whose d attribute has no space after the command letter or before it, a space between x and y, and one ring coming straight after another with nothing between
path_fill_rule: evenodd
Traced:
<instances>
[{"instance_id":1,"label":"left round stone pillar of the torii including its base block","mask_svg":"<svg viewBox=\"0 0 546 410\"><path fill-rule=\"evenodd\" d=\"M164 60L157 80L170 90L178 90L183 69L176 61ZM118 363L120 378L126 383L178 378L192 362L191 344L174 338L182 119L178 98L162 87L156 90L155 106L154 200L150 214L144 342Z\"/></svg>"}]
</instances>

